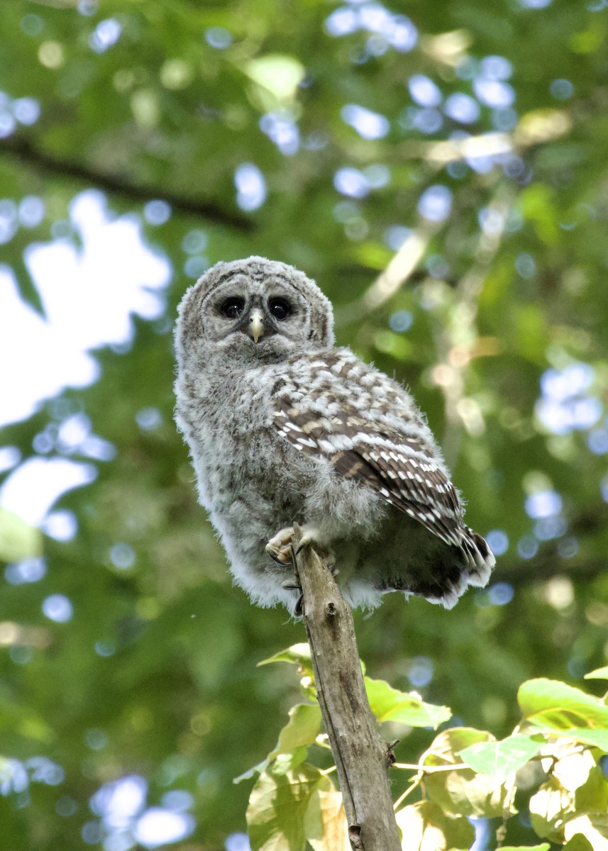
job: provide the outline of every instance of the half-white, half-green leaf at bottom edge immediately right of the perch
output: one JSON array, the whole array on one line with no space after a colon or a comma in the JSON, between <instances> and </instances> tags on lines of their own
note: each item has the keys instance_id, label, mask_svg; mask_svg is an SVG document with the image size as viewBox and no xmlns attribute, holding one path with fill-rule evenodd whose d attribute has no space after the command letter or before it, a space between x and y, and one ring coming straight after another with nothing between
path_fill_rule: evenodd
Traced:
<instances>
[{"instance_id":1,"label":"half-white, half-green leaf at bottom edge immediately right of the perch","mask_svg":"<svg viewBox=\"0 0 608 851\"><path fill-rule=\"evenodd\" d=\"M432 801L410 804L395 819L404 837L404 851L467 851L475 838L473 825L464 816L445 814Z\"/></svg>"}]
</instances>

